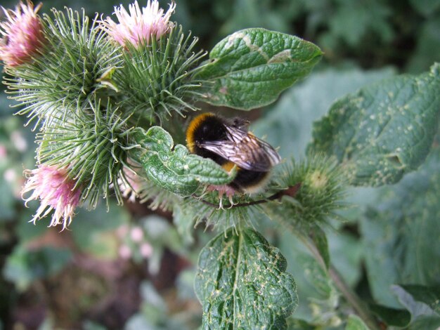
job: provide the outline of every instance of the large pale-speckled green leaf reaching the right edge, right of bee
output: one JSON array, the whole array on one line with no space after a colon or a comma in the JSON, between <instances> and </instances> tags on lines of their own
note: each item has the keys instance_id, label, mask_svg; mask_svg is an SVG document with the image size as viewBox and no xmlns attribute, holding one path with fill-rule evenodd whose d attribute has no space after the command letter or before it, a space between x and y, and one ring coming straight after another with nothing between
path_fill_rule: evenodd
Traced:
<instances>
[{"instance_id":1,"label":"large pale-speckled green leaf reaching the right edge, right of bee","mask_svg":"<svg viewBox=\"0 0 440 330\"><path fill-rule=\"evenodd\" d=\"M314 124L311 148L337 157L353 185L396 183L425 161L440 109L440 65L365 86Z\"/></svg>"}]
</instances>

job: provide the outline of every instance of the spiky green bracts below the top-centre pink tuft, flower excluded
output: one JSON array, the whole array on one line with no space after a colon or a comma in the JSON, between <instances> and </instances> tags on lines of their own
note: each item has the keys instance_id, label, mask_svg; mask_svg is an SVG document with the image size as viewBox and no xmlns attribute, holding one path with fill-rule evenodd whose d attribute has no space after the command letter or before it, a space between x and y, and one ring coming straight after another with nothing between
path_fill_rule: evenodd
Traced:
<instances>
[{"instance_id":1,"label":"spiky green bracts below the top-centre pink tuft, flower excluded","mask_svg":"<svg viewBox=\"0 0 440 330\"><path fill-rule=\"evenodd\" d=\"M159 123L173 113L196 110L193 99L202 98L202 81L195 79L205 53L195 53L198 39L184 34L181 26L152 39L149 45L127 46L122 51L122 65L112 81L120 95L119 106L141 120Z\"/></svg>"}]
</instances>

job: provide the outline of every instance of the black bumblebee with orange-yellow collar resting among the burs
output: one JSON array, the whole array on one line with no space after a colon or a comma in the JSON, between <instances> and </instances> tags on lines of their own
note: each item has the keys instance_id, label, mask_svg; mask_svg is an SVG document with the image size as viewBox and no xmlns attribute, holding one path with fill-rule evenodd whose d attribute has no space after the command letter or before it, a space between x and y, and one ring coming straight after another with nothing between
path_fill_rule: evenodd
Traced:
<instances>
[{"instance_id":1,"label":"black bumblebee with orange-yellow collar resting among the burs","mask_svg":"<svg viewBox=\"0 0 440 330\"><path fill-rule=\"evenodd\" d=\"M226 171L237 166L237 176L228 184L233 192L258 192L271 168L280 162L271 145L247 131L248 124L240 118L225 119L208 112L190 121L186 130L191 153L214 160Z\"/></svg>"}]
</instances>

